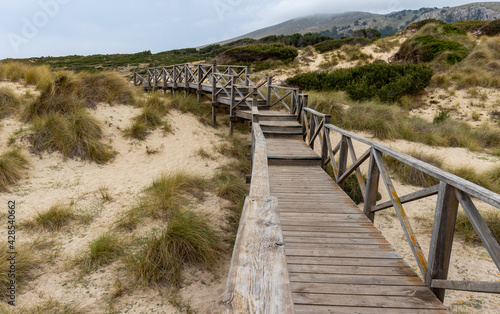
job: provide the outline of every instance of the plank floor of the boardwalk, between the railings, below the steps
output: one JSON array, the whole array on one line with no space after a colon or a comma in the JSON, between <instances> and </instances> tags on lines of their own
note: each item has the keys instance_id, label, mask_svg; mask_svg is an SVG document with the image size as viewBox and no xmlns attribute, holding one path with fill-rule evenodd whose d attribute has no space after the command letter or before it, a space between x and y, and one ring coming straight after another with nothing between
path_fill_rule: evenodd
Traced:
<instances>
[{"instance_id":1,"label":"plank floor of the boardwalk, between the railings, below the steps","mask_svg":"<svg viewBox=\"0 0 500 314\"><path fill-rule=\"evenodd\" d=\"M297 313L447 312L302 139L267 144Z\"/></svg>"}]
</instances>

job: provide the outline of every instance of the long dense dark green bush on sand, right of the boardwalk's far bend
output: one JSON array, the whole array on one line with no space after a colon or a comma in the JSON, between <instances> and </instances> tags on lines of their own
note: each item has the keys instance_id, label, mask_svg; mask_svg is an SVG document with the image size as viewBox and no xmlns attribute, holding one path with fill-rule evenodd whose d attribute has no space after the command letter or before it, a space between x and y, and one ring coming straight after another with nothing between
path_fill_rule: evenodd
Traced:
<instances>
[{"instance_id":1,"label":"long dense dark green bush on sand, right of the boardwalk's far bend","mask_svg":"<svg viewBox=\"0 0 500 314\"><path fill-rule=\"evenodd\" d=\"M345 90L353 100L396 101L423 91L434 71L422 65L370 64L331 73L309 72L287 80L305 90Z\"/></svg>"}]
</instances>

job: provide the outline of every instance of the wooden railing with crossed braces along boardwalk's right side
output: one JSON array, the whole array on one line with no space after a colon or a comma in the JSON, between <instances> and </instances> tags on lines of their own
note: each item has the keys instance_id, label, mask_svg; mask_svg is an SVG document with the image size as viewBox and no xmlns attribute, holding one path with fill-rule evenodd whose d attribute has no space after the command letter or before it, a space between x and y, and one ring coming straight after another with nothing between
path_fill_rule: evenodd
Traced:
<instances>
[{"instance_id":1,"label":"wooden railing with crossed braces along boardwalk's right side","mask_svg":"<svg viewBox=\"0 0 500 314\"><path fill-rule=\"evenodd\" d=\"M307 103L305 105L307 106ZM301 121L304 140L311 148L314 148L314 141L319 139L323 167L326 168L327 165L330 165L333 168L333 179L340 187L344 187L348 176L353 173L356 175L363 195L364 213L370 220L374 220L376 212L391 207L395 208L405 238L412 250L425 284L432 289L441 301L444 300L446 289L500 293L500 282L447 280L459 205L464 209L484 247L500 270L500 245L473 201L473 198L477 198L500 209L500 195L383 144L370 141L336 127L330 124L330 116L310 108L303 108ZM336 145L331 141L333 133L340 135L340 140ZM368 150L358 157L353 141L367 145ZM384 155L395 158L437 179L439 184L409 195L399 196L384 163ZM351 166L347 168L349 156ZM369 169L367 182L365 182L360 166L367 161L369 162ZM380 178L387 190L390 201L377 204ZM433 195L438 195L438 198L430 250L426 259L403 204Z\"/></svg>"}]
</instances>

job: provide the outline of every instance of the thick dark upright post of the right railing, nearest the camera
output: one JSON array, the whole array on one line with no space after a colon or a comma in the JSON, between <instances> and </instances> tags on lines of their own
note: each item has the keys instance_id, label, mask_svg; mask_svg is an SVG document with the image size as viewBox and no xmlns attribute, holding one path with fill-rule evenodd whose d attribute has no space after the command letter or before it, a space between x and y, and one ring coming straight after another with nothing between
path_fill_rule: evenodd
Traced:
<instances>
[{"instance_id":1,"label":"thick dark upright post of the right railing, nearest the camera","mask_svg":"<svg viewBox=\"0 0 500 314\"><path fill-rule=\"evenodd\" d=\"M457 213L458 200L455 188L441 182L432 228L429 262L425 274L425 284L441 302L444 301L446 290L432 289L431 284L433 279L448 278Z\"/></svg>"}]
</instances>

